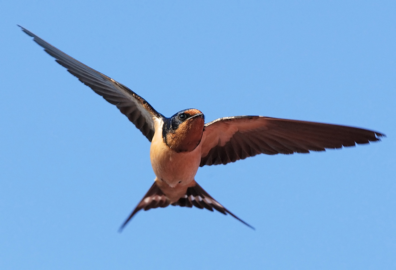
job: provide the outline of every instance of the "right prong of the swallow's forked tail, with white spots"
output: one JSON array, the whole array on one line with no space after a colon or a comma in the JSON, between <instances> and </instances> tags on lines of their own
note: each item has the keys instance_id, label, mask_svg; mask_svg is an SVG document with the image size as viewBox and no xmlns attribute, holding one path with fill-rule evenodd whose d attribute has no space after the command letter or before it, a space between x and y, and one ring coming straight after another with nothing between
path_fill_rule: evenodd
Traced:
<instances>
[{"instance_id":1,"label":"right prong of the swallow's forked tail, with white spots","mask_svg":"<svg viewBox=\"0 0 396 270\"><path fill-rule=\"evenodd\" d=\"M195 207L198 207L200 209L206 208L209 211L213 211L214 208L220 213L223 213L224 215L227 215L227 213L230 214L232 217L238 219L238 221L242 222L243 224L249 226L254 230L251 225L228 211L223 205L213 199L213 197L210 196L208 192L206 192L198 183L195 183L195 186L187 188L186 194L177 202L172 203L172 205L179 205L183 207L192 207L194 205Z\"/></svg>"}]
</instances>

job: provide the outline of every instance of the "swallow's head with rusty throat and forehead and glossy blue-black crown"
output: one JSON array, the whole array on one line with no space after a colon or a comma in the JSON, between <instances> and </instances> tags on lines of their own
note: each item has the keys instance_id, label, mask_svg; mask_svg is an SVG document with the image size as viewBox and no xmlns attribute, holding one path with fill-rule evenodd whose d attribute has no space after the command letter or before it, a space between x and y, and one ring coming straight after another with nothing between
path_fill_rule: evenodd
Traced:
<instances>
[{"instance_id":1,"label":"swallow's head with rusty throat and forehead and glossy blue-black crown","mask_svg":"<svg viewBox=\"0 0 396 270\"><path fill-rule=\"evenodd\" d=\"M201 142L204 124L204 114L200 110L181 110L164 121L164 143L176 152L190 152Z\"/></svg>"}]
</instances>

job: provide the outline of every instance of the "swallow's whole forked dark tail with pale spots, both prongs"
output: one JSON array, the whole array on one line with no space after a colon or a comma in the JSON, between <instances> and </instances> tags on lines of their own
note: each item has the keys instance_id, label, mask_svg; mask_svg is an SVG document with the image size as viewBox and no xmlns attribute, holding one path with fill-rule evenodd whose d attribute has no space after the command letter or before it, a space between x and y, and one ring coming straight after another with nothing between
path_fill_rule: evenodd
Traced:
<instances>
[{"instance_id":1,"label":"swallow's whole forked dark tail with pale spots, both prongs","mask_svg":"<svg viewBox=\"0 0 396 270\"><path fill-rule=\"evenodd\" d=\"M132 211L131 215L129 215L128 219L121 225L119 232L121 232L126 224L132 219L132 217L139 212L141 209L147 211L148 209L151 208L157 208L157 207L167 207L170 204L170 201L168 197L162 192L162 190L158 187L157 183L154 182L152 184L151 188L148 190L146 195L143 197L143 199L138 203L138 205L135 207L135 209ZM198 183L195 182L194 186L191 186L187 188L186 194L179 198L176 202L172 203L171 205L179 205L182 207L198 207L200 209L206 208L209 211L213 212L213 209L216 209L220 213L223 213L224 215L230 214L232 217L238 219L238 221L242 222L246 226L253 228L250 224L246 223L230 211L228 211L227 208L225 208L223 205L221 205L219 202L217 202L215 199L213 199L212 196L208 194Z\"/></svg>"}]
</instances>

